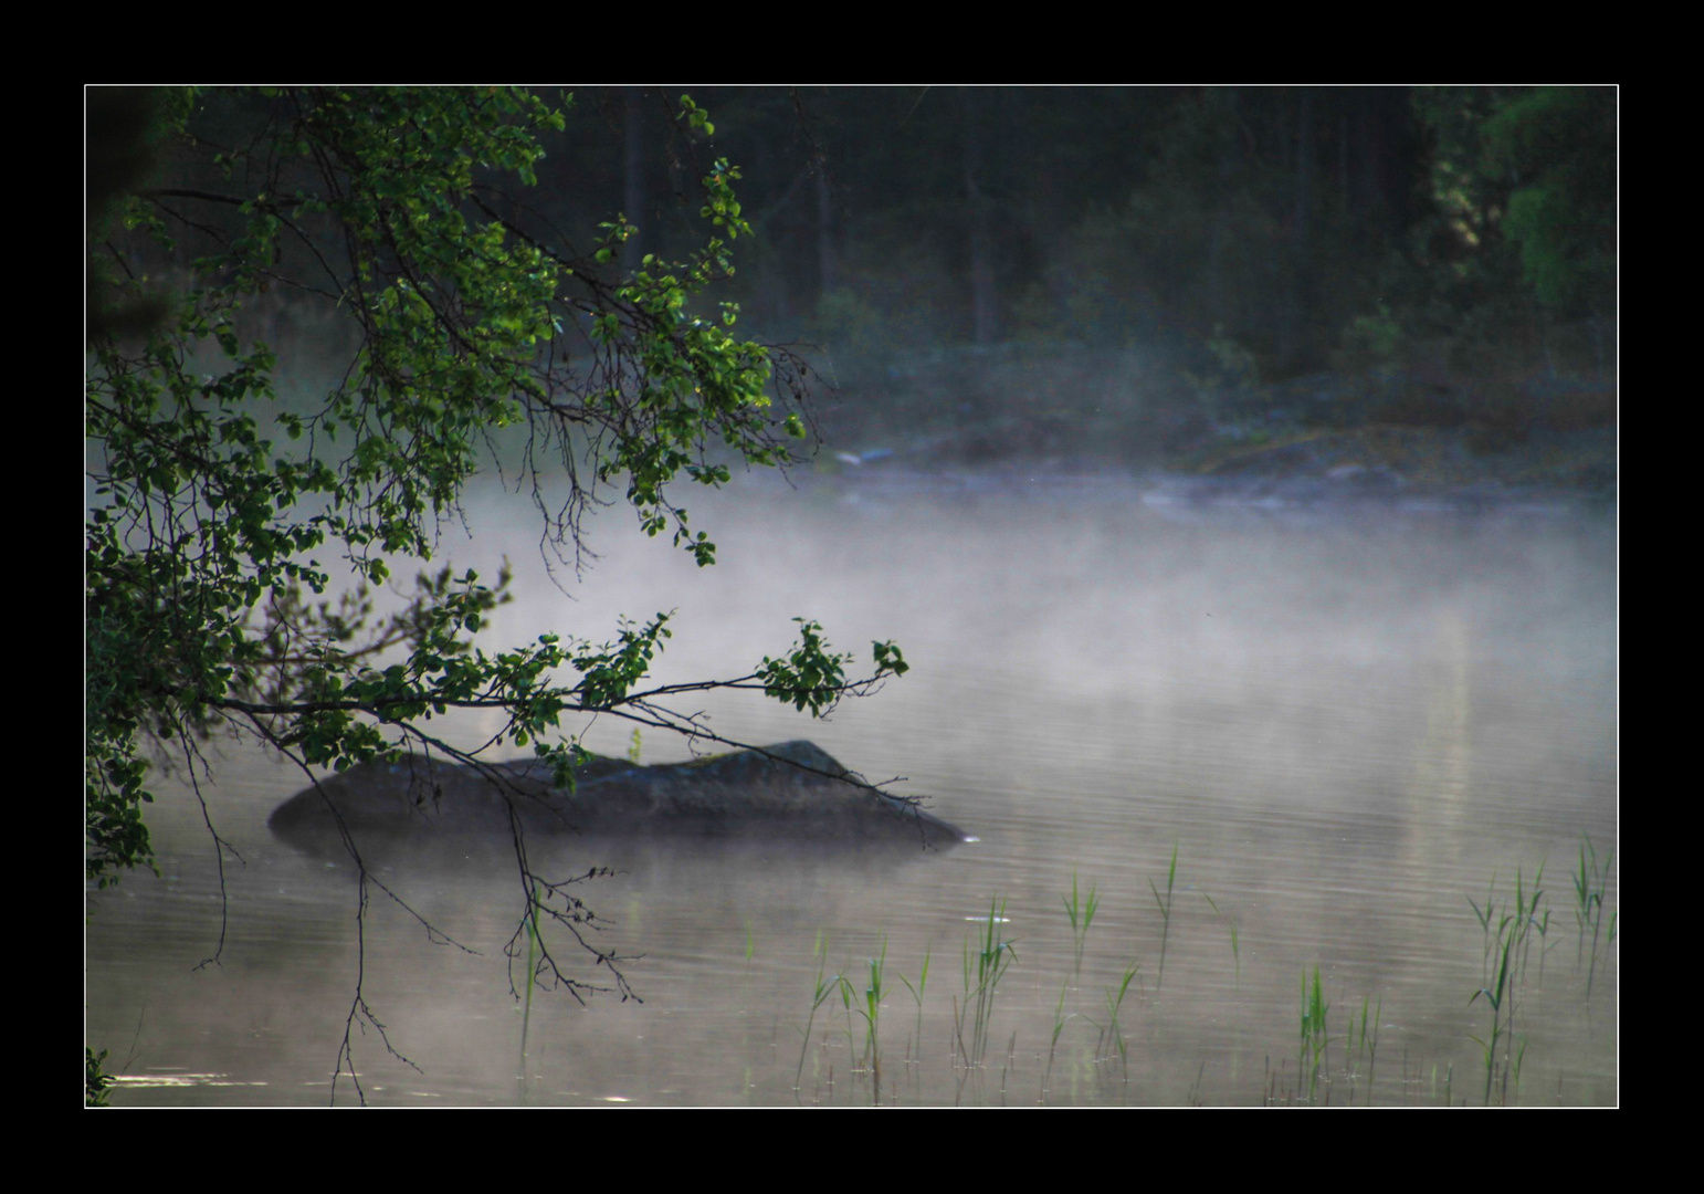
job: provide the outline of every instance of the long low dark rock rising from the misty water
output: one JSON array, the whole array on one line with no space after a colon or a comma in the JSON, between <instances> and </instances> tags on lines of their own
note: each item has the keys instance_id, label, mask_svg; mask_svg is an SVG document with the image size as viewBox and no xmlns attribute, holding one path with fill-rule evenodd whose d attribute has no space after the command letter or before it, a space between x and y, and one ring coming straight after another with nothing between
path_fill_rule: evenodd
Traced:
<instances>
[{"instance_id":1,"label":"long low dark rock rising from the misty water","mask_svg":"<svg viewBox=\"0 0 1704 1194\"><path fill-rule=\"evenodd\" d=\"M849 780L826 751L782 742L651 768L593 757L569 793L532 759L489 768L409 754L322 780L281 803L268 820L298 846L337 839L332 809L361 834L527 832L622 836L797 836L825 843L893 841L953 846L966 834L917 805Z\"/></svg>"}]
</instances>

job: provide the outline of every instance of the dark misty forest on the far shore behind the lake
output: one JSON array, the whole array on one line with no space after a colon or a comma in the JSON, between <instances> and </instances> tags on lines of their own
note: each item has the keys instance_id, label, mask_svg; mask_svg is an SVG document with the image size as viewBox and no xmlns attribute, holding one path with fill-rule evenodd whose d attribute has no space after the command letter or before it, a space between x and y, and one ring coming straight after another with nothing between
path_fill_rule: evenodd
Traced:
<instances>
[{"instance_id":1,"label":"dark misty forest on the far shore behind the lake","mask_svg":"<svg viewBox=\"0 0 1704 1194\"><path fill-rule=\"evenodd\" d=\"M716 297L820 346L833 440L1131 455L1322 375L1314 423L1614 420L1612 87L682 90L573 89L530 215L680 259L729 159Z\"/></svg>"}]
</instances>

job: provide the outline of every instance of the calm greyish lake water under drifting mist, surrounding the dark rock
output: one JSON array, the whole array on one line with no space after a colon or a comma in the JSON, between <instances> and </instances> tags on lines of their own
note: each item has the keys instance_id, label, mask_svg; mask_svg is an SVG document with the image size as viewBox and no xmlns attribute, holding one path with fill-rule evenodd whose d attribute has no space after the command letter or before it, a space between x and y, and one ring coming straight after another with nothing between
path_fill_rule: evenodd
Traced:
<instances>
[{"instance_id":1,"label":"calm greyish lake water under drifting mist, surrounding the dark rock","mask_svg":"<svg viewBox=\"0 0 1704 1194\"><path fill-rule=\"evenodd\" d=\"M912 674L826 723L760 699L678 708L733 739L809 737L872 780L905 776L900 790L982 841L855 858L569 843L559 873L619 870L583 896L642 1003L537 993L525 1064L503 955L525 897L501 851L392 861L383 882L458 945L371 892L363 993L419 1071L371 1025L356 1032L370 1102L1287 1102L1309 1097L1298 988L1319 967L1314 1100L1477 1104L1469 1037L1489 1037L1491 1008L1469 1003L1486 965L1469 897L1501 918L1540 865L1551 918L1513 996L1525 1052L1506 1100L1619 1102L1619 943L1598 942L1588 1001L1569 882L1583 836L1600 855L1617 841L1612 513L1222 505L1114 479L748 483L694 507L717 566L612 512L571 599L511 501L470 505L472 542L445 532L457 565L516 565L489 645L549 628L603 640L617 614L678 607L659 674L702 679L784 648L794 616L866 658L895 638ZM460 727L467 742L491 728ZM607 718L588 744L624 754L629 733ZM685 757L654 735L641 747ZM351 868L268 834L300 774L247 747L223 756L203 795L242 863L227 861L220 964L194 969L220 901L186 785L162 785L153 814L165 877L90 899L89 1040L128 1076L116 1104L331 1098L363 948ZM1167 928L1154 887L1164 897L1174 849ZM1099 897L1080 974L1074 875ZM964 942L995 899L1016 960L983 1064L964 1068ZM804 1029L820 971L862 1000L883 942L878 1085L866 1022L838 996L809 1042ZM918 986L925 953L918 1006L900 976ZM1106 1001L1131 964L1120 1059ZM1375 1051L1355 1047L1363 1000ZM1500 1076L1494 1102L1501 1090ZM337 1102L353 1100L344 1078Z\"/></svg>"}]
</instances>

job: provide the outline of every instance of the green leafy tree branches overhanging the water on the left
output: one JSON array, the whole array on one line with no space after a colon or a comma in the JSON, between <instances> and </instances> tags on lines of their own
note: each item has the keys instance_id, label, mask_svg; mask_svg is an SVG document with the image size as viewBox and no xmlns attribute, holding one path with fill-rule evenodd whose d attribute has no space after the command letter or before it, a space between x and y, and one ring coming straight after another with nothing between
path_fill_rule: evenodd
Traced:
<instances>
[{"instance_id":1,"label":"green leafy tree branches overhanging the water on the left","mask_svg":"<svg viewBox=\"0 0 1704 1194\"><path fill-rule=\"evenodd\" d=\"M508 720L482 749L532 745L567 783L579 754L564 715L707 733L656 701L726 684L820 715L903 674L884 643L874 675L849 681L850 657L804 619L787 655L695 686L644 687L666 614L602 645L542 635L487 652L477 635L508 577L489 587L450 566L423 571L402 612L373 616L370 587L400 561L433 559L441 520L501 443L525 443L523 476L561 553L578 548L603 490L624 486L646 534L714 563L670 483L784 466L806 435L796 358L741 339L731 304L705 314L709 288L733 275L729 242L751 230L729 162L702 167L702 242L619 276L625 218L576 251L516 198L566 125L562 106L525 90L176 89L157 101L164 177L90 232L101 302L158 300L155 278L182 288L141 334L90 329L90 878L104 887L152 865L148 740L193 759L225 727L303 766L344 769L411 740L469 759L428 723L494 708ZM688 155L714 133L688 97L675 119ZM256 307L278 295L358 333L307 408L279 399L283 362L256 333ZM334 607L343 568L356 587Z\"/></svg>"}]
</instances>

